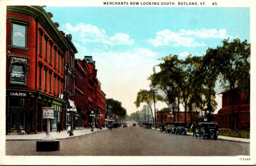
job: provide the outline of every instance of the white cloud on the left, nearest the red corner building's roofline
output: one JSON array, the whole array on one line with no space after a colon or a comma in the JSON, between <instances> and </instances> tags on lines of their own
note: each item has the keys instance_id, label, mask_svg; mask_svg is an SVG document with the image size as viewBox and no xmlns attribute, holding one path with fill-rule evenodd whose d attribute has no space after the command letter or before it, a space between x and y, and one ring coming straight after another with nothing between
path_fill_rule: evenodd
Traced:
<instances>
[{"instance_id":1,"label":"white cloud on the left, nearest the red corner building's roofline","mask_svg":"<svg viewBox=\"0 0 256 166\"><path fill-rule=\"evenodd\" d=\"M114 45L131 45L134 40L130 39L128 34L116 33L114 36L107 36L104 29L100 29L97 26L90 24L77 23L76 26L72 26L67 23L63 26L64 31L70 32L77 41L83 43L100 42L109 46Z\"/></svg>"}]
</instances>

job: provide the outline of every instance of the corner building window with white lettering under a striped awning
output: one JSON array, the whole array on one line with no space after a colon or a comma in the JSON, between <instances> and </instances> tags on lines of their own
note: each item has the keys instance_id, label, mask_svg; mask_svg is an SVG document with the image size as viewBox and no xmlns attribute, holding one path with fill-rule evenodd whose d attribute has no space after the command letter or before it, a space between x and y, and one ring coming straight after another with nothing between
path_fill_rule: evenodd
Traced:
<instances>
[{"instance_id":1,"label":"corner building window with white lettering under a striped awning","mask_svg":"<svg viewBox=\"0 0 256 166\"><path fill-rule=\"evenodd\" d=\"M26 83L26 75L23 66L14 65L11 72L11 81L16 83Z\"/></svg>"}]
</instances>

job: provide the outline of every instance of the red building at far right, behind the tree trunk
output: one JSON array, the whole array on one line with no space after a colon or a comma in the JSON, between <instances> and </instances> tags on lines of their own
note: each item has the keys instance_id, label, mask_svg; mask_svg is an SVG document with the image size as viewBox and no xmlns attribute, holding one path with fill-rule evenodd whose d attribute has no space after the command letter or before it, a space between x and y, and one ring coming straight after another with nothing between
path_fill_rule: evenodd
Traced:
<instances>
[{"instance_id":1,"label":"red building at far right, behind the tree trunk","mask_svg":"<svg viewBox=\"0 0 256 166\"><path fill-rule=\"evenodd\" d=\"M231 93L225 91L220 94L222 94L222 108L213 115L213 120L219 123L220 129L231 129ZM246 97L244 92L236 92L236 94L238 95L233 95L234 129L250 129L250 97Z\"/></svg>"}]
</instances>

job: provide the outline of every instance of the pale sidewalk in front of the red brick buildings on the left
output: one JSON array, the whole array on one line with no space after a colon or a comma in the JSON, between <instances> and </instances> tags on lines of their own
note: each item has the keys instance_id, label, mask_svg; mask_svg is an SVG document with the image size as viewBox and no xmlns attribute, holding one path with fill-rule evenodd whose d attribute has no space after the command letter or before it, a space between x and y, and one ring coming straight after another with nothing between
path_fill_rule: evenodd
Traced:
<instances>
[{"instance_id":1,"label":"pale sidewalk in front of the red brick buildings on the left","mask_svg":"<svg viewBox=\"0 0 256 166\"><path fill-rule=\"evenodd\" d=\"M73 130L74 135L69 136L69 133L67 130L59 132L50 132L51 137L53 137L55 140L62 140L62 139L68 139L72 137L77 137L80 135L87 135L90 133L100 132L102 130L106 130L108 128L102 128L102 129L95 129L92 132L91 128L88 129L82 129L82 130ZM37 134L25 134L25 135L5 135L5 140L41 140L46 136L46 132L44 133L37 133Z\"/></svg>"}]
</instances>

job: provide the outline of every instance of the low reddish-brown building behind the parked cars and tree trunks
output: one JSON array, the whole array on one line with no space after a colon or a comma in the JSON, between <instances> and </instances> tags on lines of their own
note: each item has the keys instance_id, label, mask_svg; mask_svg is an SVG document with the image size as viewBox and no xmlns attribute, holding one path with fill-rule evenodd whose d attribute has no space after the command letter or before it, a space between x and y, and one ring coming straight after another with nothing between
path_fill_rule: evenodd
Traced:
<instances>
[{"instance_id":1,"label":"low reddish-brown building behind the parked cars and tree trunks","mask_svg":"<svg viewBox=\"0 0 256 166\"><path fill-rule=\"evenodd\" d=\"M195 124L197 125L200 121L198 119L199 112L187 112L187 124ZM175 119L178 119L178 113L175 113ZM179 121L185 122L185 112L179 113ZM156 125L160 125L161 121L174 123L174 114L173 112L170 114L169 111L156 111Z\"/></svg>"}]
</instances>

